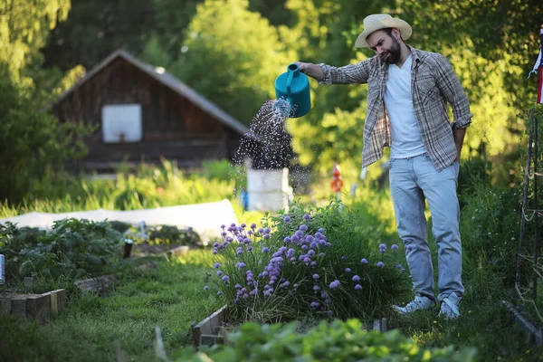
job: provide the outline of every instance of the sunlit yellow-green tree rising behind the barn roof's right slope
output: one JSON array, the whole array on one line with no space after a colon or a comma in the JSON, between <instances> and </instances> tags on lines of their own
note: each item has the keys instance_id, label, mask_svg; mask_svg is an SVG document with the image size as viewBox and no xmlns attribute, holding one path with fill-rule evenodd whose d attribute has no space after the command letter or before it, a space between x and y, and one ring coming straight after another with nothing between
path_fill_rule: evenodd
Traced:
<instances>
[{"instance_id":1,"label":"sunlit yellow-green tree rising behind the barn roof's right slope","mask_svg":"<svg viewBox=\"0 0 543 362\"><path fill-rule=\"evenodd\" d=\"M198 5L170 70L246 124L265 100L275 98L275 78L294 57L277 30L248 5L247 0Z\"/></svg>"}]
</instances>

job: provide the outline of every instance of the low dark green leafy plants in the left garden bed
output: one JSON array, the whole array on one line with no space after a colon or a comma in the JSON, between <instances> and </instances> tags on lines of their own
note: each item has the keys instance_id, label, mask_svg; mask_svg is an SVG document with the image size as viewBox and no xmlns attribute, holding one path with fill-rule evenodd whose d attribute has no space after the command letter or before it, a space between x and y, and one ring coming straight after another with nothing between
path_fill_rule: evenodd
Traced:
<instances>
[{"instance_id":1,"label":"low dark green leafy plants in the left garden bed","mask_svg":"<svg viewBox=\"0 0 543 362\"><path fill-rule=\"evenodd\" d=\"M0 225L0 253L6 255L6 272L24 276L74 278L96 275L118 261L122 235L107 223L64 219L50 233L20 231L11 223Z\"/></svg>"}]
</instances>

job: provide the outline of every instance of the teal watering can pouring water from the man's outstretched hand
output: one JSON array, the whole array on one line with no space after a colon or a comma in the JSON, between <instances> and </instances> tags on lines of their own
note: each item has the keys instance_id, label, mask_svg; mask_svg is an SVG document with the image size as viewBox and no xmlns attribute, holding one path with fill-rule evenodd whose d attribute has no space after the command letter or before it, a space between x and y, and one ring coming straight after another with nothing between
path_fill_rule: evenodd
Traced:
<instances>
[{"instance_id":1,"label":"teal watering can pouring water from the man's outstretched hand","mask_svg":"<svg viewBox=\"0 0 543 362\"><path fill-rule=\"evenodd\" d=\"M291 119L299 118L310 111L310 80L295 62L289 64L287 72L275 80L275 98L289 103L288 117ZM276 101L274 108L279 104L280 102Z\"/></svg>"}]
</instances>

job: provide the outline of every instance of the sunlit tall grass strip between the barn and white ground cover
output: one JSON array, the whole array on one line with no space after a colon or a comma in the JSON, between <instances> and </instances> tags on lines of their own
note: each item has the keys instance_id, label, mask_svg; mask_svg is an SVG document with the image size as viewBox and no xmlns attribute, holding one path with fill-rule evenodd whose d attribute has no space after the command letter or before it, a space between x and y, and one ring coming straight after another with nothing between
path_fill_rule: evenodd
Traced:
<instances>
[{"instance_id":1,"label":"sunlit tall grass strip between the barn and white ground cover","mask_svg":"<svg viewBox=\"0 0 543 362\"><path fill-rule=\"evenodd\" d=\"M138 210L223 199L239 204L235 187L240 172L236 167L229 169L224 162L218 162L205 164L200 173L184 174L164 160L161 166L140 165L135 172L120 167L113 178L64 176L61 181L44 183L33 198L24 199L18 205L0 203L0 217L33 211Z\"/></svg>"}]
</instances>

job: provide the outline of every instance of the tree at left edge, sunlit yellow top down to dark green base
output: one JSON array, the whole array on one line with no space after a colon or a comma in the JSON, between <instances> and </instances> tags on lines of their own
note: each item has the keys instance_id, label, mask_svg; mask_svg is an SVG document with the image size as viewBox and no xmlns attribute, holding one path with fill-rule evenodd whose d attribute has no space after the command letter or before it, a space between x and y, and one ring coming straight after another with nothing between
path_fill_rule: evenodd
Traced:
<instances>
[{"instance_id":1,"label":"tree at left edge, sunlit yellow top down to dark green base","mask_svg":"<svg viewBox=\"0 0 543 362\"><path fill-rule=\"evenodd\" d=\"M81 68L66 77L41 67L43 47L57 20L66 18L68 0L12 0L0 3L0 199L20 202L45 184L45 176L69 157L84 152L81 125L59 124L43 111L43 101L69 87ZM36 90L36 85L51 88Z\"/></svg>"}]
</instances>

